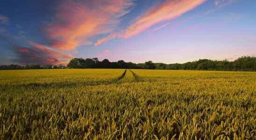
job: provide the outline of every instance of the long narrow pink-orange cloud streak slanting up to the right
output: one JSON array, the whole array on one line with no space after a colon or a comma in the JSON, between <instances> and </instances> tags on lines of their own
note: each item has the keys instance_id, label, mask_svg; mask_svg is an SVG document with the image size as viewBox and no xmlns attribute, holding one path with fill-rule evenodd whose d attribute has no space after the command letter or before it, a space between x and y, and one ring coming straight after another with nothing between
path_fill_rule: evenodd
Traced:
<instances>
[{"instance_id":1,"label":"long narrow pink-orange cloud streak slanting up to the right","mask_svg":"<svg viewBox=\"0 0 256 140\"><path fill-rule=\"evenodd\" d=\"M156 7L150 8L144 16L135 21L135 23L130 25L126 30L101 38L94 45L100 45L116 37L129 38L133 35L140 34L152 25L177 18L205 1L206 0L167 0ZM160 28L164 28L164 26ZM156 28L155 30L160 28Z\"/></svg>"}]
</instances>

